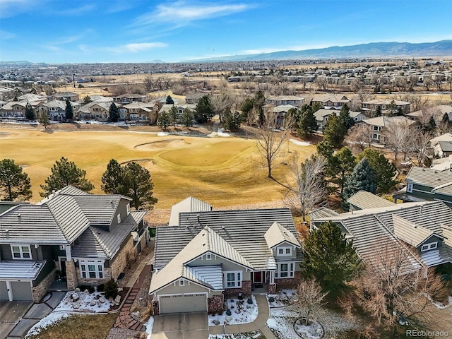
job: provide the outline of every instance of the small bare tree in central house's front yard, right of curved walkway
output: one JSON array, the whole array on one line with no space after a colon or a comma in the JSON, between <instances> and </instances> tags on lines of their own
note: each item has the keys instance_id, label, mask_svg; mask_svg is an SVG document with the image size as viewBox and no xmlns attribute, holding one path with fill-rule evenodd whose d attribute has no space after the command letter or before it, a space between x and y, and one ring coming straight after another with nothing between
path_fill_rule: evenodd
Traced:
<instances>
[{"instance_id":1,"label":"small bare tree in central house's front yard, right of curved walkway","mask_svg":"<svg viewBox=\"0 0 452 339\"><path fill-rule=\"evenodd\" d=\"M297 306L300 316L306 325L309 325L309 316L315 314L326 304L325 297L328 292L322 292L316 278L303 279L297 286Z\"/></svg>"}]
</instances>

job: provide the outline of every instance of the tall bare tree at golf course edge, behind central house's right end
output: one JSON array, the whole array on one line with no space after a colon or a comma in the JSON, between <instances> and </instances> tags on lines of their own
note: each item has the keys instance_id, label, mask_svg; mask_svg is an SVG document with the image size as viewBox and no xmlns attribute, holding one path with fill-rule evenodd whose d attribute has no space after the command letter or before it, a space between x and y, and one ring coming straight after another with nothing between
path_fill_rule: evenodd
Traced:
<instances>
[{"instance_id":1,"label":"tall bare tree at golf course edge, behind central house's right end","mask_svg":"<svg viewBox=\"0 0 452 339\"><path fill-rule=\"evenodd\" d=\"M303 221L306 221L310 210L325 201L326 184L323 182L325 167L326 159L321 155L313 155L301 164L297 157L294 157L285 201L292 210L302 216Z\"/></svg>"}]
</instances>

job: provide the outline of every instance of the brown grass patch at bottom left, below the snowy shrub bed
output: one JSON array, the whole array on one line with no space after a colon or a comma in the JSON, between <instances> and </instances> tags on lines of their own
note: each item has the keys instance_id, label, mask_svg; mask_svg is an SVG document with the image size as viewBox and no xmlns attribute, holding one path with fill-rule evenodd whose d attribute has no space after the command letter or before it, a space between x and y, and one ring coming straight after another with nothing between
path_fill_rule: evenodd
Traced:
<instances>
[{"instance_id":1,"label":"brown grass patch at bottom left, below the snowy shrub bed","mask_svg":"<svg viewBox=\"0 0 452 339\"><path fill-rule=\"evenodd\" d=\"M42 330L32 339L93 339L107 338L117 314L73 315Z\"/></svg>"}]
</instances>

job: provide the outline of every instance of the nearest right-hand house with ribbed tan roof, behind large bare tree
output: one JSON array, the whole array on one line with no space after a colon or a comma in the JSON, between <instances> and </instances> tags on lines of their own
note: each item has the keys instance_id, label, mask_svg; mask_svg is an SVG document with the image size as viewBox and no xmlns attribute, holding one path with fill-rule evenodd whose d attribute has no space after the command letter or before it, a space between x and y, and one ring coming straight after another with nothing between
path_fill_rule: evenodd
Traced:
<instances>
[{"instance_id":1,"label":"nearest right-hand house with ribbed tan roof, behind large bare tree","mask_svg":"<svg viewBox=\"0 0 452 339\"><path fill-rule=\"evenodd\" d=\"M405 254L407 271L452 263L452 209L441 201L399 203L326 218L311 228L335 222L364 262Z\"/></svg>"}]
</instances>

